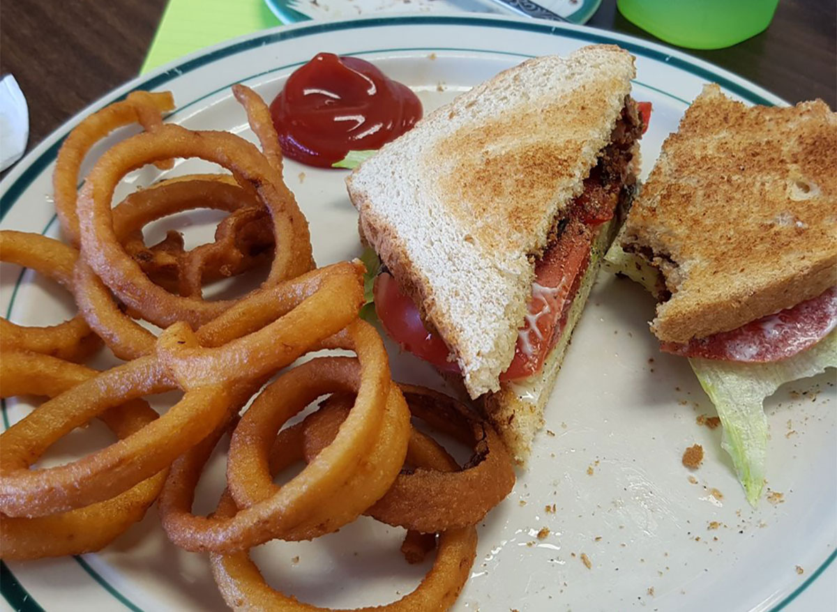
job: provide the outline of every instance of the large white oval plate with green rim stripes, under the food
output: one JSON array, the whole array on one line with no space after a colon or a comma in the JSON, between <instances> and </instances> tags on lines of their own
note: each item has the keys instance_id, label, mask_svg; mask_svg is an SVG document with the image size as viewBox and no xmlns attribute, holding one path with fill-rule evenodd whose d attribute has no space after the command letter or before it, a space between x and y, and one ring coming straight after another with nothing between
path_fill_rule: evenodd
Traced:
<instances>
[{"instance_id":1,"label":"large white oval plate with green rim stripes, under the food","mask_svg":"<svg viewBox=\"0 0 837 612\"><path fill-rule=\"evenodd\" d=\"M318 51L371 60L416 89L430 108L525 57L566 54L588 43L619 43L637 57L634 96L655 108L642 140L644 173L704 82L716 81L748 102L782 103L660 45L530 19L460 15L306 23L258 33L136 79L83 115L132 89L171 89L178 107L169 120L251 136L229 86L244 82L272 99L287 75ZM55 235L50 176L56 150L77 120L36 147L3 181L0 226ZM197 167L187 162L175 172ZM145 184L157 175L146 168L131 179ZM311 222L320 264L360 252L344 176L294 162L285 166ZM206 237L208 217L190 218L191 235L203 224ZM18 270L4 264L0 305L13 320L60 319L65 311L52 291L29 273L18 279ZM721 451L720 431L696 424L696 416L713 411L686 360L656 348L645 324L652 312L639 287L606 274L598 279L547 407L549 431L537 436L531 467L520 472L514 492L480 526L478 556L456 609L778 610L834 558L833 375L788 385L768 401L768 487L784 498L777 505L763 499L753 510ZM391 354L398 377L438 381L428 367L394 349ZM819 395L796 393L811 389ZM26 410L9 401L3 417L13 422ZM689 472L680 456L694 443L703 446L706 459ZM202 487L199 511L208 511L223 481L222 461L213 464L214 481ZM713 497L712 489L722 498ZM546 513L553 503L557 512ZM713 521L721 526L710 529ZM550 534L536 538L543 527ZM299 562L293 563L296 555ZM255 556L273 584L331 606L395 599L427 569L404 564L398 530L371 520L316 543L270 543ZM2 590L9 604L24 610L223 609L206 558L167 543L153 508L104 553L3 565ZM829 589L816 590L819 596L807 609L829 609Z\"/></svg>"}]
</instances>

